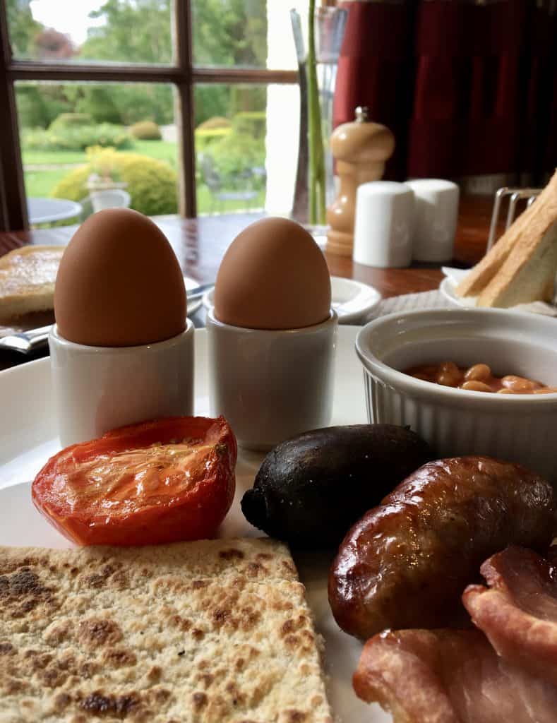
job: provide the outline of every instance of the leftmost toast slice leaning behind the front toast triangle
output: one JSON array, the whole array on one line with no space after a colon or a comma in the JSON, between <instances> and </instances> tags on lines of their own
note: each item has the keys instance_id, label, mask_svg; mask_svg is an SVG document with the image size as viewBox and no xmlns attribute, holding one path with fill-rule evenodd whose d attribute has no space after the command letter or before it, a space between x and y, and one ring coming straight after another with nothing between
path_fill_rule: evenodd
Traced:
<instances>
[{"instance_id":1,"label":"leftmost toast slice leaning behind the front toast triangle","mask_svg":"<svg viewBox=\"0 0 557 723\"><path fill-rule=\"evenodd\" d=\"M519 215L493 248L459 283L455 290L456 294L458 296L481 294L488 283L491 283L492 279L498 275L499 270L518 244L522 244L524 241L526 244L524 253L530 253L531 243L540 243L555 221L557 221L557 171L535 203L532 203ZM537 299L540 298L542 297L537 296Z\"/></svg>"}]
</instances>

